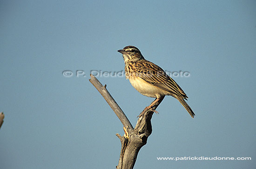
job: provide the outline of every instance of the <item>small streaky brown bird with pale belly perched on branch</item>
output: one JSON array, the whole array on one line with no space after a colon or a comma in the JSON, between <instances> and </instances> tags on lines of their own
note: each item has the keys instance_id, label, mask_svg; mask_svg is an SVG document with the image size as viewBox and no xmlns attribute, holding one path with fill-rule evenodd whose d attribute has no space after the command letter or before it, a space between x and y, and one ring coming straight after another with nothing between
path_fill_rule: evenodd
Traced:
<instances>
[{"instance_id":1,"label":"small streaky brown bird with pale belly perched on branch","mask_svg":"<svg viewBox=\"0 0 256 169\"><path fill-rule=\"evenodd\" d=\"M122 54L124 59L126 79L141 94L155 98L145 108L146 110L149 110L157 101L166 95L170 95L179 100L182 106L189 112L190 116L194 118L195 113L185 101L188 96L161 67L146 60L142 56L141 51L135 46L126 46L122 50L117 51Z\"/></svg>"}]
</instances>

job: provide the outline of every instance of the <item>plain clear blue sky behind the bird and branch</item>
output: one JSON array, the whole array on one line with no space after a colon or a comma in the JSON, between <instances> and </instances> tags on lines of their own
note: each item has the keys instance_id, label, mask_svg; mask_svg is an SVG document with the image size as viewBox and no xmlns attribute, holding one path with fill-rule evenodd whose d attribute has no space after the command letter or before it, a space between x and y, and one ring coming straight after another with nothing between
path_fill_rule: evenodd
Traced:
<instances>
[{"instance_id":1,"label":"plain clear blue sky behind the bird and branch","mask_svg":"<svg viewBox=\"0 0 256 169\"><path fill-rule=\"evenodd\" d=\"M255 167L255 6L253 0L2 0L1 167L115 168L122 125L88 79L92 70L123 71L117 50L127 45L164 70L189 72L173 78L196 114L192 119L166 97L135 169ZM124 76L97 78L135 126L154 99ZM252 160L157 160L183 156Z\"/></svg>"}]
</instances>

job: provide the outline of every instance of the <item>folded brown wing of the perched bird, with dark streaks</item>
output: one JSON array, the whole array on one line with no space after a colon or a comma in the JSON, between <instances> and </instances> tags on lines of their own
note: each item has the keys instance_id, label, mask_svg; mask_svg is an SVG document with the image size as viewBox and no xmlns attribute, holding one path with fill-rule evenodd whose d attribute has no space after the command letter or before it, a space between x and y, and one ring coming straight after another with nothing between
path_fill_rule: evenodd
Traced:
<instances>
[{"instance_id":1,"label":"folded brown wing of the perched bird, with dark streaks","mask_svg":"<svg viewBox=\"0 0 256 169\"><path fill-rule=\"evenodd\" d=\"M136 63L138 64L136 66L137 76L141 79L163 90L180 95L184 99L188 98L182 88L162 68L147 60Z\"/></svg>"}]
</instances>

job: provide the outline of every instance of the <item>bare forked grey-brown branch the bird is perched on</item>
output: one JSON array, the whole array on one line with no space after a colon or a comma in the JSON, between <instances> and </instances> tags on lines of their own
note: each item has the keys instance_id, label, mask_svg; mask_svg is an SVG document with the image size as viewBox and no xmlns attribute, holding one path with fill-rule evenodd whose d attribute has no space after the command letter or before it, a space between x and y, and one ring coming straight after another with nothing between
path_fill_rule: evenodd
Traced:
<instances>
[{"instance_id":1,"label":"bare forked grey-brown branch the bird is perched on","mask_svg":"<svg viewBox=\"0 0 256 169\"><path fill-rule=\"evenodd\" d=\"M116 169L133 169L139 150L143 145L147 144L148 137L152 133L151 118L154 112L156 112L155 109L159 106L164 97L151 106L151 109L148 111L144 109L135 128L133 128L126 115L122 112L113 97L108 93L106 85L103 87L96 77L93 75L90 76L91 79L89 79L89 81L108 102L109 106L114 110L115 114L124 126L124 135L120 136L120 134L116 134L121 141L121 153Z\"/></svg>"}]
</instances>

